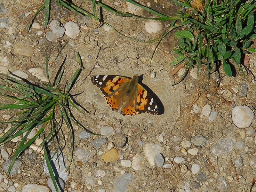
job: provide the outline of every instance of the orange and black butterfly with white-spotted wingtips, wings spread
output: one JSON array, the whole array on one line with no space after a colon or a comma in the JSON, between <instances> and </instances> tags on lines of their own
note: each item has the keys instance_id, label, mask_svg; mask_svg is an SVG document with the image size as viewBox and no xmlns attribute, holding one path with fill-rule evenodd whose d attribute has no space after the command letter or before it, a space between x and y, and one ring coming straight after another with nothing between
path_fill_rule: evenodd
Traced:
<instances>
[{"instance_id":1,"label":"orange and black butterfly with white-spotted wingtips, wings spread","mask_svg":"<svg viewBox=\"0 0 256 192\"><path fill-rule=\"evenodd\" d=\"M156 101L147 90L138 83L138 75L131 77L118 75L96 75L91 78L100 88L108 105L122 115L140 113L158 114Z\"/></svg>"}]
</instances>

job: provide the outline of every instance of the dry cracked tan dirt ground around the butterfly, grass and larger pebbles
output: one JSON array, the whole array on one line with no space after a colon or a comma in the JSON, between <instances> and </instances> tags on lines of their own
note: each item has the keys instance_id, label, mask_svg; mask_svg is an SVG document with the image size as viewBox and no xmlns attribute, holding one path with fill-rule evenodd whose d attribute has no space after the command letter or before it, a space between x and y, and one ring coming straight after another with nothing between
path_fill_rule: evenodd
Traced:
<instances>
[{"instance_id":1,"label":"dry cracked tan dirt ground around the butterfly, grass and larger pebbles","mask_svg":"<svg viewBox=\"0 0 256 192\"><path fill-rule=\"evenodd\" d=\"M172 86L174 80L177 80L181 74L177 73L173 77L170 76L170 72L173 70L169 65L170 59L160 51L156 51L150 63L156 43L140 43L119 36L112 30L106 31L101 24L84 16L76 15L67 9L62 9L56 3L51 8L50 22L52 19L57 19L64 26L66 22L73 21L80 27L84 24L86 27L80 28L80 34L76 38L70 39L64 35L57 42L51 42L45 37L45 33L51 30L49 27L44 29L43 12L34 21L39 23L41 28L32 28L29 32L26 31L32 15L43 4L43 1L1 0L1 2L4 3L7 12L0 16L1 18L9 18L8 26L0 29L0 66L2 69L7 67L9 71L22 70L29 75L29 81L38 84L38 80L28 72L28 69L33 67L45 68L46 54L49 55L49 61L53 61L61 46L68 42L57 61L49 66L49 71L52 74L51 80L54 79L67 55L63 76L63 84L65 84L79 67L76 56L76 52L79 52L84 69L73 87L72 94L81 93L76 95L74 99L89 113L82 115L74 109L73 115L94 133L100 133L100 129L104 126L113 128L113 132L106 138L107 143L100 149L95 149L91 143L99 136L91 135L86 139L81 139L78 134L82 130L75 128L75 154L77 149L84 149L88 157L81 161L74 155L69 170L69 179L65 181L66 191L115 191L116 180L124 173L132 175L132 179L124 187L124 191L129 192L249 191L248 188L252 185L252 179L255 178L256 174L254 163L256 162L254 140L256 123L253 121L249 128L239 129L232 123L231 111L235 105L255 107L256 89L251 74L248 74L244 79L237 69L236 77L228 77L220 68L219 80L216 80L218 77L213 78L218 76L216 72L211 74L211 79L208 81L206 68L202 67L198 78L193 78L189 73L184 81ZM175 13L175 7L170 2L160 0L148 2L150 2L151 8L163 14L173 15ZM78 3L83 8L87 7L87 9L92 7L92 4L87 1L74 3ZM117 0L106 3L118 10L125 10L123 1ZM117 17L105 10L102 14L106 22L127 36L138 37L143 33L146 36L145 40L150 40L159 35L148 34L145 31L146 20ZM146 12L141 10L137 14L148 16ZM167 27L168 22L163 22L162 25ZM163 31L165 29L164 27ZM39 30L43 31L41 35L37 34ZM11 45L5 47L7 41ZM174 58L172 47L176 45L177 41L171 33L160 44L159 48ZM17 46L22 46L24 49L31 47L33 54L20 54L15 51ZM255 55L250 55L251 62L248 64L254 74L256 69L252 62L256 61L255 58ZM8 70L2 72L9 74ZM156 77L151 77L150 73L149 75L146 74L151 70L156 72ZM100 89L93 85L90 80L92 76L100 74L130 77L134 74L146 74L142 83L146 84L159 98L159 106L162 106L160 108L161 114L153 116L143 113L135 116L123 116L112 111L102 97ZM245 96L240 94L242 83L248 85ZM238 89L238 92L235 92L236 89L233 88ZM0 100L0 102L3 101ZM194 104L200 107L199 113L191 113ZM206 104L211 106L212 111L218 112L218 116L212 122L200 117L201 110ZM5 124L1 125L1 129L4 130L6 126ZM68 138L68 130L65 129L65 126L63 131ZM128 142L124 148L115 147L120 157L118 160L104 162L102 154L109 150L109 146L114 142L113 136L116 132L124 134ZM196 145L195 142L192 142L192 138L198 135L203 135L209 143ZM233 148L227 154L216 156L212 153L212 147L221 139L231 139ZM191 146L183 148L181 142L184 140L190 141ZM245 147L241 150L235 146L238 140L245 142ZM141 142L142 145L140 145ZM172 168L149 164L143 153L144 146L148 143L159 145L161 149L159 152L164 156L165 164L172 164ZM17 145L18 143L11 142L1 146L1 148L11 147L15 149ZM186 153L189 148L198 149L198 153L193 155ZM69 145L67 144L64 148L64 154L67 158L68 152ZM132 161L134 156L142 157L143 169L134 170L131 166L122 166L121 160ZM183 157L185 161L176 163L174 157L177 156ZM234 166L235 159L241 158L243 165ZM35 152L30 155L24 153L19 159L23 164L20 167L20 172L16 175L7 177L4 171L0 169L0 174L4 175L4 178L18 183L18 186L15 187L16 191L22 191L22 188L30 183L47 185L49 175L44 174L43 155ZM0 165L2 166L3 163L4 159L1 158ZM191 172L192 164L200 165L199 173ZM97 175L99 170L103 170L104 174ZM226 181L220 179L223 177ZM0 182L4 181L1 180ZM256 191L256 188L252 188L252 191Z\"/></svg>"}]
</instances>

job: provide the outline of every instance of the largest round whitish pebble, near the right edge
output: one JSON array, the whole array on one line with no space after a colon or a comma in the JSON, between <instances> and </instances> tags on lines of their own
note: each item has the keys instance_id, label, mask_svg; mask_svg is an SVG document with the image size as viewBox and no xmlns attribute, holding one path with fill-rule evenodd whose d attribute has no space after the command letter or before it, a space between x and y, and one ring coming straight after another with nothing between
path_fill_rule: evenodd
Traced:
<instances>
[{"instance_id":1,"label":"largest round whitish pebble, near the right edge","mask_svg":"<svg viewBox=\"0 0 256 192\"><path fill-rule=\"evenodd\" d=\"M232 121L240 129L249 127L254 119L251 108L245 105L238 105L232 110Z\"/></svg>"}]
</instances>

